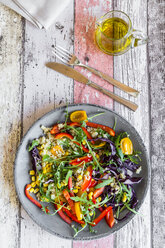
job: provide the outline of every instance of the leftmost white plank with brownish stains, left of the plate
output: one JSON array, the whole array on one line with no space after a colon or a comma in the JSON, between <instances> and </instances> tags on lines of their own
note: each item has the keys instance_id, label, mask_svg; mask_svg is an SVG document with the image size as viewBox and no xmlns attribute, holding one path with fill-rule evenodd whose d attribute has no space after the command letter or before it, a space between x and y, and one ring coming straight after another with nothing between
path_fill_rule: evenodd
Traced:
<instances>
[{"instance_id":1,"label":"leftmost white plank with brownish stains, left of the plate","mask_svg":"<svg viewBox=\"0 0 165 248\"><path fill-rule=\"evenodd\" d=\"M16 248L19 203L13 163L21 134L21 17L0 4L0 247Z\"/></svg>"}]
</instances>

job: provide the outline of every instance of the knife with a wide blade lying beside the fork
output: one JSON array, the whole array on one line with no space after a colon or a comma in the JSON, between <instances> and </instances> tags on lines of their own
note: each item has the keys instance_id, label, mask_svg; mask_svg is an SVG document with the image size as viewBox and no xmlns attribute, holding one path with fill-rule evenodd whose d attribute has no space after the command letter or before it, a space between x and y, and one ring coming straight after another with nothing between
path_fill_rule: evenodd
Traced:
<instances>
[{"instance_id":1,"label":"knife with a wide blade lying beside the fork","mask_svg":"<svg viewBox=\"0 0 165 248\"><path fill-rule=\"evenodd\" d=\"M76 71L72 67L69 67L69 66L64 65L64 64L56 63L56 62L49 62L46 64L46 66L61 73L61 74L63 74L63 75L65 75L65 76L67 76L67 77L73 78L74 80L76 80L80 83L83 83L85 85L93 87L94 89L96 89L96 90L102 92L103 94L111 97L115 101L125 105L126 107L128 107L129 109L131 109L133 111L136 111L136 109L138 108L137 104L130 102L130 101L110 92L109 90L102 88L101 86L92 82L91 80L89 80L87 77L85 77L83 74Z\"/></svg>"}]
</instances>

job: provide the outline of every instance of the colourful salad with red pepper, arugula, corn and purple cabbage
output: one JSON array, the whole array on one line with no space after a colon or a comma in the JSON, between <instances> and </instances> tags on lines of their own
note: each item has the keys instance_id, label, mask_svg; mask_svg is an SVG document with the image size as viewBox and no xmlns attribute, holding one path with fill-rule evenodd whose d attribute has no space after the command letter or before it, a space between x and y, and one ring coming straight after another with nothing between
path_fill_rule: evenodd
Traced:
<instances>
[{"instance_id":1,"label":"colourful salad with red pepper, arugula, corn and purple cabbage","mask_svg":"<svg viewBox=\"0 0 165 248\"><path fill-rule=\"evenodd\" d=\"M33 169L26 196L45 214L58 214L75 235L86 226L96 232L103 218L113 228L136 213L133 185L142 180L134 176L141 170L140 152L129 134L116 134L116 123L111 128L91 122L94 117L85 111L67 113L64 123L42 126L44 135L29 146ZM45 203L54 205L53 213Z\"/></svg>"}]
</instances>

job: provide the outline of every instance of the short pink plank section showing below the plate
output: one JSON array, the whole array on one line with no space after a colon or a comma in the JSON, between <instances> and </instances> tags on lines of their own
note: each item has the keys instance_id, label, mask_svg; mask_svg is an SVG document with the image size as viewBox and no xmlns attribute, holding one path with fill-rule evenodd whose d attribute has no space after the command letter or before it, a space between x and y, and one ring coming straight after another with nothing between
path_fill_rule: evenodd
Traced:
<instances>
[{"instance_id":1,"label":"short pink plank section showing below the plate","mask_svg":"<svg viewBox=\"0 0 165 248\"><path fill-rule=\"evenodd\" d=\"M113 235L92 241L75 241L73 248L113 248Z\"/></svg>"}]
</instances>

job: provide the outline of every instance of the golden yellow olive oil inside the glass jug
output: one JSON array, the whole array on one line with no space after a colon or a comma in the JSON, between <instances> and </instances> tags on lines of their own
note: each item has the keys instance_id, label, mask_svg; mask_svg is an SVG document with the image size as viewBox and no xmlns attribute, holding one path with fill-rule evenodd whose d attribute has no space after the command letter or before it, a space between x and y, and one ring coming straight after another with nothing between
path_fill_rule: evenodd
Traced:
<instances>
[{"instance_id":1,"label":"golden yellow olive oil inside the glass jug","mask_svg":"<svg viewBox=\"0 0 165 248\"><path fill-rule=\"evenodd\" d=\"M117 55L127 51L132 37L127 35L129 24L123 19L112 17L105 19L96 29L96 42L105 53Z\"/></svg>"}]
</instances>

